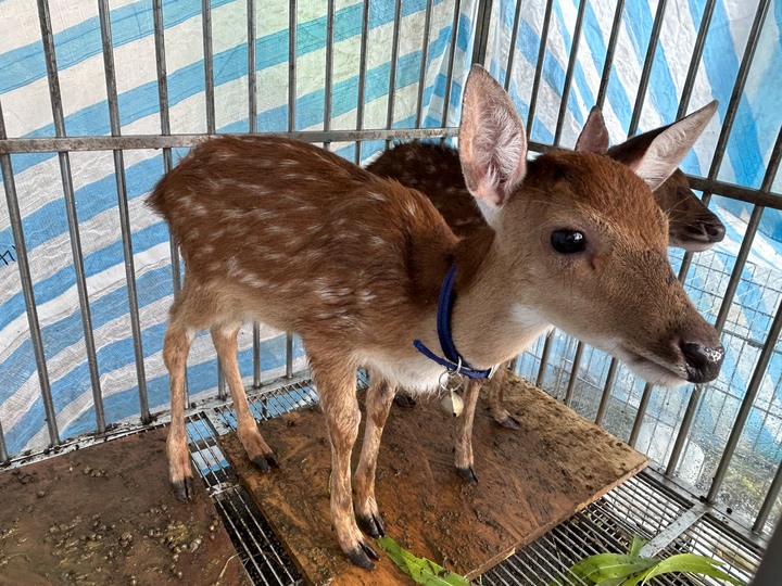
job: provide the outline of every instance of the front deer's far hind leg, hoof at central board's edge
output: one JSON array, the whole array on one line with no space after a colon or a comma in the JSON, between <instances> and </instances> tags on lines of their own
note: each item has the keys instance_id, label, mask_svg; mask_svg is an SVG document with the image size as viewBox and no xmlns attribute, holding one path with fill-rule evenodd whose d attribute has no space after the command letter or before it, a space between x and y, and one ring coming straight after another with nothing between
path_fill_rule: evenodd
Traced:
<instances>
[{"instance_id":1,"label":"front deer's far hind leg, hoof at central board's edge","mask_svg":"<svg viewBox=\"0 0 782 586\"><path fill-rule=\"evenodd\" d=\"M237 435L241 442L244 451L252 462L257 466L262 472L268 472L269 467L279 468L277 458L272 448L264 442L257 423L248 403L244 385L242 384L241 374L239 372L239 361L237 358L237 336L241 323L218 323L212 327L212 341L214 342L217 356L219 357L223 371L225 372L228 388L230 388L231 398L234 399L234 411L237 418Z\"/></svg>"}]
</instances>

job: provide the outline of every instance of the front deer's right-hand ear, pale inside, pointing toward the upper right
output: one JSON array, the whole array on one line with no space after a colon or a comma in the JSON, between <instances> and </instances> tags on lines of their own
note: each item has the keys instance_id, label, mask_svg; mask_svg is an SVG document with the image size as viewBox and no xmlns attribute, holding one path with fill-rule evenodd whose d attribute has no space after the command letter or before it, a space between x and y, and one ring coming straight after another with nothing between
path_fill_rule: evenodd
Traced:
<instances>
[{"instance_id":1,"label":"front deer's right-hand ear, pale inside, pointing toward the upper right","mask_svg":"<svg viewBox=\"0 0 782 586\"><path fill-rule=\"evenodd\" d=\"M717 100L714 100L681 120L655 130L657 135L648 142L645 150L640 153L623 154L629 161L628 165L646 181L652 191L656 190L677 169L716 110ZM642 148L641 143L639 143L640 148Z\"/></svg>"}]
</instances>

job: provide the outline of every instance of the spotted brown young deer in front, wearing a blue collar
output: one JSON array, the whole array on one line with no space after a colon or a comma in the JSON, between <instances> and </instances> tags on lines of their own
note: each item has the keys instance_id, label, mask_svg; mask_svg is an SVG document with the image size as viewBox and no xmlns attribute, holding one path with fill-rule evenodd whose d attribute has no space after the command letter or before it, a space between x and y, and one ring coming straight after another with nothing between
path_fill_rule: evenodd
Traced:
<instances>
[{"instance_id":1,"label":"spotted brown young deer in front, wearing a blue collar","mask_svg":"<svg viewBox=\"0 0 782 586\"><path fill-rule=\"evenodd\" d=\"M714 379L722 347L671 272L667 220L648 187L670 175L706 118L651 148L638 175L590 153L551 153L528 164L513 103L475 66L464 92L461 157L493 230L463 241L419 192L323 149L258 136L197 146L150 198L187 267L163 348L175 491L191 494L184 373L195 332L211 328L239 438L262 470L276 459L248 408L237 332L250 319L298 332L331 445L337 538L353 563L371 568L377 553L356 519L370 535L382 534L375 500L380 435L395 386L434 388L443 373L413 341L437 347L438 295L452 265L453 341L475 368L509 359L555 323L655 382ZM371 383L354 513L360 366Z\"/></svg>"}]
</instances>

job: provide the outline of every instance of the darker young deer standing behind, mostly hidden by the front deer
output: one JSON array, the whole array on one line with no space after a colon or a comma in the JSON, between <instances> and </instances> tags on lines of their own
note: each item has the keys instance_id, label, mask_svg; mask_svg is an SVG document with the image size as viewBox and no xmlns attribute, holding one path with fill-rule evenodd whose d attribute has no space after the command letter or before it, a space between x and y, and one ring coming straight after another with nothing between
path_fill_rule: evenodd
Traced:
<instances>
[{"instance_id":1,"label":"darker young deer standing behind, mostly hidden by the front deer","mask_svg":"<svg viewBox=\"0 0 782 586\"><path fill-rule=\"evenodd\" d=\"M714 107L711 105L707 107ZM607 153L615 161L632 166L636 164L652 142L671 125L649 130L621 144L608 148L608 130L598 107L593 107L577 142L577 150ZM590 140L589 145L582 144ZM487 222L475 203L462 175L458 151L432 142L407 142L383 152L367 170L426 194L459 238L485 228ZM686 176L676 169L655 191L657 205L668 216L668 245L686 251L705 251L724 238L724 226L692 192ZM503 382L507 365L502 365L489 387L492 416L501 425L518 429L518 422L503 405ZM400 390L396 403L411 406L415 400Z\"/></svg>"}]
</instances>

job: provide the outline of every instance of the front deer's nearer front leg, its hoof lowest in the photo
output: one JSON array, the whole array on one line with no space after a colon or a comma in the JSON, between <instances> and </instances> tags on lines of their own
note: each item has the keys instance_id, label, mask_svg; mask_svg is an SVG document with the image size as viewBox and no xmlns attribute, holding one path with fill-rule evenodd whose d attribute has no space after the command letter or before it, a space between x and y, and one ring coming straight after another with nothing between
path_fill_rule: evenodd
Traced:
<instances>
[{"instance_id":1,"label":"front deer's nearer front leg, its hoof lowest in the photo","mask_svg":"<svg viewBox=\"0 0 782 586\"><path fill-rule=\"evenodd\" d=\"M351 491L351 451L361 422L355 370L340 361L333 352L320 355L306 341L304 344L331 443L331 523L348 559L360 568L370 570L375 564L369 557L376 560L380 557L358 530Z\"/></svg>"}]
</instances>

